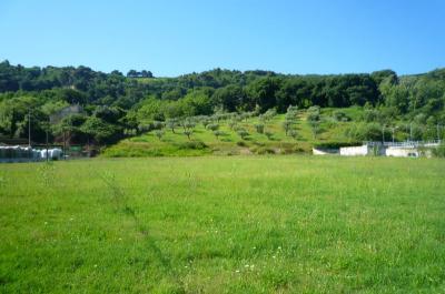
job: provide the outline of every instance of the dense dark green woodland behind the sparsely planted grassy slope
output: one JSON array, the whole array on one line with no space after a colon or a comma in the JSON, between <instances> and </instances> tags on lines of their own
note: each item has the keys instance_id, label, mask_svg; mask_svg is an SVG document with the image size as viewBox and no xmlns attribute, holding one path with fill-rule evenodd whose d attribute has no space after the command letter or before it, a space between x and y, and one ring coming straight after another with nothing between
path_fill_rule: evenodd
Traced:
<instances>
[{"instance_id":1,"label":"dense dark green woodland behind the sparsely planted grassy slope","mask_svg":"<svg viewBox=\"0 0 445 294\"><path fill-rule=\"evenodd\" d=\"M83 111L49 125L49 116L70 104ZM406 130L412 139L436 139L445 124L445 69L398 77L384 70L370 74L285 75L269 71L216 69L178 78L154 78L147 70L102 73L86 67L23 68L0 63L0 136L43 142L69 134L70 142L108 144L125 136L168 129L204 115L259 115L270 109L362 108L354 140L382 128ZM247 114L246 114L247 113ZM250 114L249 114L250 113ZM338 120L347 120L342 112ZM317 114L308 116L317 132ZM437 129L437 130L436 130ZM214 130L216 131L216 130ZM289 129L289 131L291 131ZM287 133L287 131L286 131ZM293 132L289 133L290 135Z\"/></svg>"}]
</instances>

